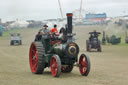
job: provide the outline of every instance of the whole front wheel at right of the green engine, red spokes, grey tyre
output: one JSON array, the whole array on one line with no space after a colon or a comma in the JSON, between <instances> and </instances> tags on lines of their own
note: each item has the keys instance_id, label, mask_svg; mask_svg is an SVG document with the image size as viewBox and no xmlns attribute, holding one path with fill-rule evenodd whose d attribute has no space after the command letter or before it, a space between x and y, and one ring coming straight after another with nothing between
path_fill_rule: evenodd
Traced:
<instances>
[{"instance_id":1,"label":"whole front wheel at right of the green engine, red spokes, grey tyre","mask_svg":"<svg viewBox=\"0 0 128 85\"><path fill-rule=\"evenodd\" d=\"M85 54L81 54L79 59L79 70L81 75L88 76L90 72L90 59Z\"/></svg>"}]
</instances>

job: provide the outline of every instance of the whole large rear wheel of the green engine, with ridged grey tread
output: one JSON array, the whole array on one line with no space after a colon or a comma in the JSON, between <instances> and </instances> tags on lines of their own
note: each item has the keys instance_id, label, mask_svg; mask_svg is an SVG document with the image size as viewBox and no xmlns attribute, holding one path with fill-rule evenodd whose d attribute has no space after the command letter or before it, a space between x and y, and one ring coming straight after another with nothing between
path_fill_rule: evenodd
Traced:
<instances>
[{"instance_id":1,"label":"whole large rear wheel of the green engine, with ridged grey tread","mask_svg":"<svg viewBox=\"0 0 128 85\"><path fill-rule=\"evenodd\" d=\"M32 73L41 74L45 67L44 47L41 42L33 42L29 51L29 63Z\"/></svg>"}]
</instances>

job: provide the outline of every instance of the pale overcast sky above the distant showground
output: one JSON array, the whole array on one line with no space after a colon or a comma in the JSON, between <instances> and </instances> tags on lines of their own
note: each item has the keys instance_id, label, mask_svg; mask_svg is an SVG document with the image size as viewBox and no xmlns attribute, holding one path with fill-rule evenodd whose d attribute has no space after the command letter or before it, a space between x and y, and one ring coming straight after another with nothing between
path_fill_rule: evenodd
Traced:
<instances>
[{"instance_id":1,"label":"pale overcast sky above the distant showground","mask_svg":"<svg viewBox=\"0 0 128 85\"><path fill-rule=\"evenodd\" d=\"M60 0L63 15L80 8L81 0ZM83 0L85 12L114 17L128 15L128 0ZM58 0L0 0L0 18L5 20L50 19L60 16Z\"/></svg>"}]
</instances>

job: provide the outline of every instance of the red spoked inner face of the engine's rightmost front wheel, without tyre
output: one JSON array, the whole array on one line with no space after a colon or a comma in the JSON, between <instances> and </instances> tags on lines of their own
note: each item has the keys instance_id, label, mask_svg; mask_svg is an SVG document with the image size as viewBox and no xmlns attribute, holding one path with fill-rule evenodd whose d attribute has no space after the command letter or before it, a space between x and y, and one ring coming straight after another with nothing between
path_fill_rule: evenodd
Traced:
<instances>
[{"instance_id":1,"label":"red spoked inner face of the engine's rightmost front wheel, without tyre","mask_svg":"<svg viewBox=\"0 0 128 85\"><path fill-rule=\"evenodd\" d=\"M79 64L80 73L85 74L87 71L87 60L84 55L80 56Z\"/></svg>"}]
</instances>

